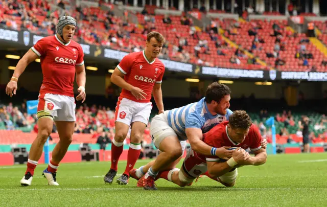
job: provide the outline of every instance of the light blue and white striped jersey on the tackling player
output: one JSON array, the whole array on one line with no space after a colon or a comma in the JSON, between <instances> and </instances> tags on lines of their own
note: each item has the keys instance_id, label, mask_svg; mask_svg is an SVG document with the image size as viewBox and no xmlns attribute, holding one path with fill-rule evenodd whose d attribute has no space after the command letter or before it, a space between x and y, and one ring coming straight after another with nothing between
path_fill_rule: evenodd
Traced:
<instances>
[{"instance_id":1,"label":"light blue and white striped jersey on the tackling player","mask_svg":"<svg viewBox=\"0 0 327 207\"><path fill-rule=\"evenodd\" d=\"M232 111L227 109L226 115L213 116L208 111L205 98L202 98L198 102L165 111L165 114L169 126L175 130L179 138L187 140L185 128L199 128L205 133L217 124L228 121Z\"/></svg>"}]
</instances>

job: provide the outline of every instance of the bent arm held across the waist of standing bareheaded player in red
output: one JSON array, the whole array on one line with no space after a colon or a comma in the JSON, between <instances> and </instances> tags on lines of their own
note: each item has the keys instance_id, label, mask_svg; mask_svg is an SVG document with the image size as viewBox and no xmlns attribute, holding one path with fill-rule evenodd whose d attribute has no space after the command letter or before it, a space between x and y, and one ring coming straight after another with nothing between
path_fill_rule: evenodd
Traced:
<instances>
[{"instance_id":1,"label":"bent arm held across the waist of standing bareheaded player in red","mask_svg":"<svg viewBox=\"0 0 327 207\"><path fill-rule=\"evenodd\" d=\"M124 88L126 90L131 91L132 95L137 100L146 99L145 96L147 95L144 93L144 91L141 88L134 87L131 84L127 83L124 80L124 74L119 70L118 67L116 67L111 75L110 78L111 82L113 82L115 85L118 85L121 88Z\"/></svg>"}]
</instances>

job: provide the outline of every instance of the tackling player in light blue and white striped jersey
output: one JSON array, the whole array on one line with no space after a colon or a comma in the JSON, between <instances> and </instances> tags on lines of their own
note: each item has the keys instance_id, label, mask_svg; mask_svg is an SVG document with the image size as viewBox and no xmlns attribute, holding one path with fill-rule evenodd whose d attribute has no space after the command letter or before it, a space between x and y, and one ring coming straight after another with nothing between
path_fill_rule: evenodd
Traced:
<instances>
[{"instance_id":1,"label":"tackling player in light blue and white striped jersey","mask_svg":"<svg viewBox=\"0 0 327 207\"><path fill-rule=\"evenodd\" d=\"M154 145L161 153L154 162L130 171L131 177L139 179L137 186L156 190L155 177L159 171L176 166L184 152L186 140L189 140L194 151L201 154L231 157L233 150L227 150L229 147L217 149L202 141L203 133L229 120L232 114L229 109L230 93L228 86L213 82L207 87L205 97L200 101L155 116L151 122L150 133Z\"/></svg>"}]
</instances>

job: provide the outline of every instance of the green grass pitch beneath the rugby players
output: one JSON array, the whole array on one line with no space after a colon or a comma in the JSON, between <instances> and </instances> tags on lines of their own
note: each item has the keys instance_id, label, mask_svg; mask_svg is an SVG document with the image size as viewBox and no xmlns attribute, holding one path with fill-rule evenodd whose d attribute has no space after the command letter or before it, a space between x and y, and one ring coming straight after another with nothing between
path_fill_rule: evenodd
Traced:
<instances>
[{"instance_id":1,"label":"green grass pitch beneath the rugby players","mask_svg":"<svg viewBox=\"0 0 327 207\"><path fill-rule=\"evenodd\" d=\"M327 153L269 155L263 166L239 168L232 188L205 176L185 188L157 180L157 191L136 188L132 178L127 186L108 185L104 162L61 164L58 187L48 186L39 165L32 186L21 187L25 168L0 167L0 206L327 206Z\"/></svg>"}]
</instances>

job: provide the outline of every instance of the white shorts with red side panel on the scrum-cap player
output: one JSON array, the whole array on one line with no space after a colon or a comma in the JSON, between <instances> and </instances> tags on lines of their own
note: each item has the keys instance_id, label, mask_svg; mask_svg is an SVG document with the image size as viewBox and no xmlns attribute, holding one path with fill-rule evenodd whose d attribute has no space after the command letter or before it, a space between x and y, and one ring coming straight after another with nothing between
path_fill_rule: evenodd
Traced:
<instances>
[{"instance_id":1,"label":"white shorts with red side panel on the scrum-cap player","mask_svg":"<svg viewBox=\"0 0 327 207\"><path fill-rule=\"evenodd\" d=\"M49 114L54 121L75 122L75 99L70 96L57 94L39 94L37 105L37 118L46 117Z\"/></svg>"}]
</instances>

